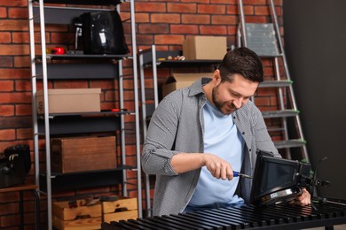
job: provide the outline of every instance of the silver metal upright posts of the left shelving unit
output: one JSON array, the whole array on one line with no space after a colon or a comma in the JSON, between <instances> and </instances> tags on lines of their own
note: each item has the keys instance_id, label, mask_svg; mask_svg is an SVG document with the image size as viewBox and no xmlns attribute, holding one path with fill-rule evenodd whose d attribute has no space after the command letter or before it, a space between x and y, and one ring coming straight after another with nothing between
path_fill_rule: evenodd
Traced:
<instances>
[{"instance_id":1,"label":"silver metal upright posts of the left shelving unit","mask_svg":"<svg viewBox=\"0 0 346 230\"><path fill-rule=\"evenodd\" d=\"M35 181L38 186L37 192L39 191L39 149L38 149L38 122L36 113L36 65L35 65L35 35L34 35L34 22L36 21L36 15L34 15L34 2L37 0L28 0L28 21L29 21L29 38L30 38L30 65L32 73L32 111L33 111L33 128L34 128L34 153L35 153ZM132 40L132 54L130 58L133 60L133 81L134 81L134 100L135 100L135 123L136 123L136 157L137 157L137 178L138 178L138 217L142 217L142 185L141 185L141 167L140 167L140 137L139 137L139 109L138 109L138 73L137 73L137 46L136 46L136 32L135 32L135 7L134 0L130 0L130 17L131 17L131 40ZM47 55L46 55L46 40L45 40L45 19L44 19L44 5L43 0L38 2L38 14L40 24L40 35L41 35L41 50L42 50L42 80L43 80L43 98L44 100L44 138L45 138L45 157L46 157L46 196L47 196L47 216L48 216L48 229L52 229L52 212L51 212L51 130L50 130L50 114L48 104L48 73L47 73ZM119 11L119 8L118 8ZM120 88L120 105L123 108L123 85L122 85L122 60L118 62L118 73L120 75L119 88ZM126 151L125 151L125 124L124 114L121 115L121 136L122 136L122 164L126 165ZM122 173L122 193L127 196L127 169L123 170Z\"/></svg>"}]
</instances>

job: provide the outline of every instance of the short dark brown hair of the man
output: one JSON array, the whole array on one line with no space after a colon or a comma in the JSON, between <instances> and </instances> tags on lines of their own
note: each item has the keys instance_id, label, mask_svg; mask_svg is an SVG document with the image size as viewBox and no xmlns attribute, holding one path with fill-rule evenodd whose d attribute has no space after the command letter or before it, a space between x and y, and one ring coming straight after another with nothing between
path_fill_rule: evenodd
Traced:
<instances>
[{"instance_id":1,"label":"short dark brown hair of the man","mask_svg":"<svg viewBox=\"0 0 346 230\"><path fill-rule=\"evenodd\" d=\"M226 53L218 66L222 81L233 80L233 74L239 73L245 79L262 82L263 65L261 59L252 50L246 47L235 48Z\"/></svg>"}]
</instances>

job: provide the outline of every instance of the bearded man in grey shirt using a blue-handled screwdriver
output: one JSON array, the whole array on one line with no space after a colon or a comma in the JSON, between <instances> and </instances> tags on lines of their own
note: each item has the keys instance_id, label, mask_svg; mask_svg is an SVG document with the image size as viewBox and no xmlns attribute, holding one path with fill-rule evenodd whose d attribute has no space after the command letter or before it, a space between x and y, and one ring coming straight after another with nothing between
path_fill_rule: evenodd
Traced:
<instances>
[{"instance_id":1,"label":"bearded man in grey shirt using a blue-handled screwdriver","mask_svg":"<svg viewBox=\"0 0 346 230\"><path fill-rule=\"evenodd\" d=\"M153 113L143 148L145 173L156 174L153 215L249 202L256 150L280 157L261 112L249 99L263 66L248 48L228 52L212 79L166 96ZM303 189L295 203L309 204Z\"/></svg>"}]
</instances>

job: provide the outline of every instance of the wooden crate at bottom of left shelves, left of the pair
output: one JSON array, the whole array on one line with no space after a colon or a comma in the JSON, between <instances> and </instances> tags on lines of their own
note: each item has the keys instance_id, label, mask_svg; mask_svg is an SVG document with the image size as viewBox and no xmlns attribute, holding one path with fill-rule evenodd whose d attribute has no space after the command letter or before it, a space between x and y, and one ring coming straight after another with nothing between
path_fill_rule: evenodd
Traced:
<instances>
[{"instance_id":1,"label":"wooden crate at bottom of left shelves, left of the pair","mask_svg":"<svg viewBox=\"0 0 346 230\"><path fill-rule=\"evenodd\" d=\"M51 204L52 224L62 230L93 230L100 229L102 208L98 202L86 206L85 200L76 200L74 206L70 202L53 202Z\"/></svg>"}]
</instances>

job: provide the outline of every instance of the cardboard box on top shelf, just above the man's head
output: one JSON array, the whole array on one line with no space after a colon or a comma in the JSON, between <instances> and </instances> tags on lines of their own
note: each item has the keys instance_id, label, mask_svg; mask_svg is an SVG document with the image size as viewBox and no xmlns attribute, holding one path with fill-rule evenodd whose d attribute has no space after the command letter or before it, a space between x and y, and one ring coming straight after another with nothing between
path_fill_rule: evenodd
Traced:
<instances>
[{"instance_id":1,"label":"cardboard box on top shelf, just above the man's head","mask_svg":"<svg viewBox=\"0 0 346 230\"><path fill-rule=\"evenodd\" d=\"M191 36L183 42L185 60L222 60L226 52L225 36Z\"/></svg>"}]
</instances>

